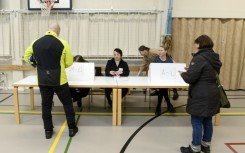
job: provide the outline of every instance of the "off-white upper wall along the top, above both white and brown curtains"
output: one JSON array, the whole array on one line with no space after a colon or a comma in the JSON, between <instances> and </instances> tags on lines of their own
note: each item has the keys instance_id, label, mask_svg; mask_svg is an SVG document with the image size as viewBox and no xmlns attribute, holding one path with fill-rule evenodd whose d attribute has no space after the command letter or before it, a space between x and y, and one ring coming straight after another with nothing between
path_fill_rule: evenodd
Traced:
<instances>
[{"instance_id":1,"label":"off-white upper wall along the top, above both white and brown curtains","mask_svg":"<svg viewBox=\"0 0 245 153\"><path fill-rule=\"evenodd\" d=\"M74 9L165 9L168 0L72 0ZM0 0L0 9L27 9L27 0ZM162 5L163 4L163 5ZM244 0L173 0L173 17L245 18Z\"/></svg>"}]
</instances>

